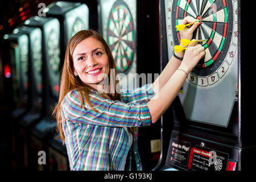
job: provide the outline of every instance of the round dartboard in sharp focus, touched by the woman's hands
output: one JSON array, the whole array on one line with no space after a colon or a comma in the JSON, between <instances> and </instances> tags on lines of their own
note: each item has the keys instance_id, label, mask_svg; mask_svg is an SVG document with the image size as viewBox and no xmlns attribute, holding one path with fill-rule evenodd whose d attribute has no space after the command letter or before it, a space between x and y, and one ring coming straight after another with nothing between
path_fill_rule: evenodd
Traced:
<instances>
[{"instance_id":1,"label":"round dartboard in sharp focus, touched by the woman's hands","mask_svg":"<svg viewBox=\"0 0 256 182\"><path fill-rule=\"evenodd\" d=\"M171 3L171 1L169 2ZM200 19L200 26L194 32L194 39L208 39L203 44L206 55L199 61L189 80L199 86L208 86L216 83L227 71L228 67L221 67L233 34L233 4L226 0L174 0L172 1L171 24L177 25L185 16ZM229 31L228 31L229 30ZM174 41L172 44L180 43L179 31L172 26ZM219 73L220 74L219 74ZM209 77L209 75L211 75Z\"/></svg>"}]
</instances>

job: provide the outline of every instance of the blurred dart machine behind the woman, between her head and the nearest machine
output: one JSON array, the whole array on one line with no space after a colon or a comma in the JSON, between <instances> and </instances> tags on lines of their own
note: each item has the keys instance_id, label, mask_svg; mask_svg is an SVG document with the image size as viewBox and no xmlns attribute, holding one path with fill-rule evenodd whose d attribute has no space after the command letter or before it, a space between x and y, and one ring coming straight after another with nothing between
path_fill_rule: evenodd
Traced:
<instances>
[{"instance_id":1,"label":"blurred dart machine behind the woman, between her head and the nearest machine","mask_svg":"<svg viewBox=\"0 0 256 182\"><path fill-rule=\"evenodd\" d=\"M98 7L99 32L112 50L121 90L142 86L130 73L159 73L156 19L158 3L155 1L102 0L98 1L98 5L100 6ZM154 53L148 54L148 52ZM146 61L156 64L152 67ZM160 125L158 126L158 123L136 131L138 140L134 142L138 141L143 169L152 169L159 159ZM148 136L148 133L152 135Z\"/></svg>"}]
</instances>

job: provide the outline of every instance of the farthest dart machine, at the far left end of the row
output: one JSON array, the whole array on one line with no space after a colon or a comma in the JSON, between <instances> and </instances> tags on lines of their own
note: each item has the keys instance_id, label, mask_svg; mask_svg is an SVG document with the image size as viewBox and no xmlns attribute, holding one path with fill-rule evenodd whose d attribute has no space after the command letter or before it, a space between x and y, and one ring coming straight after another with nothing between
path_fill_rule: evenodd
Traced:
<instances>
[{"instance_id":1,"label":"farthest dart machine, at the far left end of the row","mask_svg":"<svg viewBox=\"0 0 256 182\"><path fill-rule=\"evenodd\" d=\"M18 122L30 110L31 106L28 104L28 61L29 61L29 39L24 32L17 32L16 30L11 34L6 34L3 39L6 41L6 53L3 54L3 59L10 59L11 62L11 77L14 102L16 103L15 110L10 116L12 144L11 150L13 159L13 168L19 167L19 150L16 147L19 143L18 138Z\"/></svg>"}]
</instances>

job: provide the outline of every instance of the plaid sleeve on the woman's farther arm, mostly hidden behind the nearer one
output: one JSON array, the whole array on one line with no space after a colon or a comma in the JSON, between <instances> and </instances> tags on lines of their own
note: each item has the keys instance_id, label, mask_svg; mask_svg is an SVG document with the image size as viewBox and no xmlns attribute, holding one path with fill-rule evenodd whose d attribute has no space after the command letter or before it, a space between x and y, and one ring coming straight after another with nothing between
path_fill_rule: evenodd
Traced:
<instances>
[{"instance_id":1,"label":"plaid sleeve on the woman's farther arm, mostly hidden behind the nearer one","mask_svg":"<svg viewBox=\"0 0 256 182\"><path fill-rule=\"evenodd\" d=\"M126 103L148 102L155 96L151 84L146 84L134 90L126 90L121 92L122 101Z\"/></svg>"}]
</instances>

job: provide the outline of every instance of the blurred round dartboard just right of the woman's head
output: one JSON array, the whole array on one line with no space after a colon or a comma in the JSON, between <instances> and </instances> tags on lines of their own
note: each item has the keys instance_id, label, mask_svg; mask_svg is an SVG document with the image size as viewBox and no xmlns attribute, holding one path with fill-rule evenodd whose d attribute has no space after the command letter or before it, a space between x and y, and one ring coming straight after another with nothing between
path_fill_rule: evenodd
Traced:
<instances>
[{"instance_id":1,"label":"blurred round dartboard just right of the woman's head","mask_svg":"<svg viewBox=\"0 0 256 182\"><path fill-rule=\"evenodd\" d=\"M126 72L134 59L134 22L126 3L117 1L110 11L107 42L117 70Z\"/></svg>"}]
</instances>

